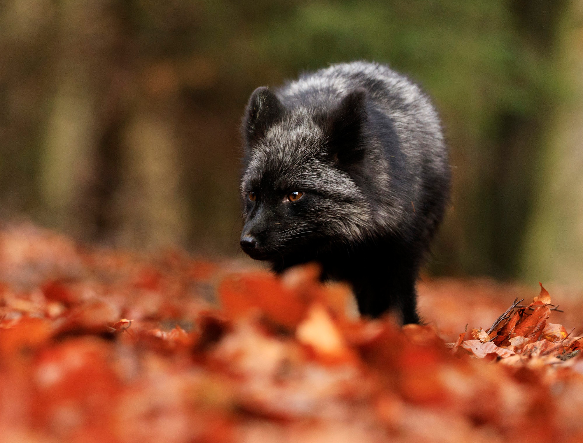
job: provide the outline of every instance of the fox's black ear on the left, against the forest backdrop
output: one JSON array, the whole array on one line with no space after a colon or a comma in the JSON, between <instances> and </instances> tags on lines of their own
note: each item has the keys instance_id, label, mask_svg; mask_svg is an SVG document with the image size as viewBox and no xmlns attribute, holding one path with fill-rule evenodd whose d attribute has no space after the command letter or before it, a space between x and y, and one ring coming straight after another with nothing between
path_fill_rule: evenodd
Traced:
<instances>
[{"instance_id":1,"label":"fox's black ear on the left, against the forest backdrop","mask_svg":"<svg viewBox=\"0 0 583 443\"><path fill-rule=\"evenodd\" d=\"M266 86L254 90L247 104L243 132L247 143L258 140L283 113L278 97Z\"/></svg>"}]
</instances>

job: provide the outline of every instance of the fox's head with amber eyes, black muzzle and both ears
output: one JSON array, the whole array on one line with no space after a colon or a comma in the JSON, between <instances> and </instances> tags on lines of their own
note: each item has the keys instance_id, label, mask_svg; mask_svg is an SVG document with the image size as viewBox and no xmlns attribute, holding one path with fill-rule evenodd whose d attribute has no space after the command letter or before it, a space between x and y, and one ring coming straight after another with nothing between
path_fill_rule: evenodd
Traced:
<instances>
[{"instance_id":1,"label":"fox's head with amber eyes, black muzzle and both ears","mask_svg":"<svg viewBox=\"0 0 583 443\"><path fill-rule=\"evenodd\" d=\"M267 87L248 102L241 248L252 258L315 259L309 255L350 245L371 228L366 90L307 103L280 100Z\"/></svg>"}]
</instances>

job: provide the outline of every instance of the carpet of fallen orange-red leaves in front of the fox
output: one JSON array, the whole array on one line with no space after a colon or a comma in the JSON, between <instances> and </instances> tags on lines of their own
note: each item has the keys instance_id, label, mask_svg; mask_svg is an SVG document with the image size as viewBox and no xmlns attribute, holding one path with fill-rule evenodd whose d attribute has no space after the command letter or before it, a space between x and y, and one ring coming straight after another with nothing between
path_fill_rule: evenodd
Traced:
<instances>
[{"instance_id":1,"label":"carpet of fallen orange-red leaves in front of the fox","mask_svg":"<svg viewBox=\"0 0 583 443\"><path fill-rule=\"evenodd\" d=\"M234 270L0 231L0 441L583 441L583 339L545 290L448 344L314 266Z\"/></svg>"}]
</instances>

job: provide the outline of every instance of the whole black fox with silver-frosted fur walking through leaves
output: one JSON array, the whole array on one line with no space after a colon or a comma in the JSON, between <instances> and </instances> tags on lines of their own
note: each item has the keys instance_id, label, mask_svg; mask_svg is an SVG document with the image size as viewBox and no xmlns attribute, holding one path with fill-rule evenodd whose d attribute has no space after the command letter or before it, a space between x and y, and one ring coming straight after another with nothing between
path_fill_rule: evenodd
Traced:
<instances>
[{"instance_id":1,"label":"whole black fox with silver-frosted fur walking through leaves","mask_svg":"<svg viewBox=\"0 0 583 443\"><path fill-rule=\"evenodd\" d=\"M256 89L243 135L243 251L276 272L319 262L361 314L419 322L415 283L450 181L422 90L384 65L332 65Z\"/></svg>"}]
</instances>

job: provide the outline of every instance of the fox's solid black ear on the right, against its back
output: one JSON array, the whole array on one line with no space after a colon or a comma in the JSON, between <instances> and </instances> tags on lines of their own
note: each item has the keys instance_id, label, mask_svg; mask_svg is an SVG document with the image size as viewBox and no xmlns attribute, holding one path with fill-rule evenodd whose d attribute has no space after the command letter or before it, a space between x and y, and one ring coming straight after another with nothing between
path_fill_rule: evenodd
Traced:
<instances>
[{"instance_id":1,"label":"fox's solid black ear on the right, against its back","mask_svg":"<svg viewBox=\"0 0 583 443\"><path fill-rule=\"evenodd\" d=\"M367 119L366 95L363 88L353 90L329 114L329 149L336 163L350 164L363 159L361 141Z\"/></svg>"}]
</instances>

